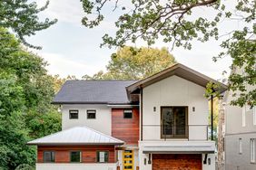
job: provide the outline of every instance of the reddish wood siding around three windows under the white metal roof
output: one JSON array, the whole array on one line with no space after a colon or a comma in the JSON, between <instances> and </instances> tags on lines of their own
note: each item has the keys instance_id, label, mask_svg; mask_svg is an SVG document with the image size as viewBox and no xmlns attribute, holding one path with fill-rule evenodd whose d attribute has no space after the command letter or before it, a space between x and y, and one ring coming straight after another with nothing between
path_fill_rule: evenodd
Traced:
<instances>
[{"instance_id":1,"label":"reddish wood siding around three windows under the white metal roof","mask_svg":"<svg viewBox=\"0 0 256 170\"><path fill-rule=\"evenodd\" d=\"M115 163L114 146L37 146L37 162L44 162L44 151L55 151L55 163L69 163L70 151L82 151L83 163L95 163L97 151L109 151L109 163Z\"/></svg>"}]
</instances>

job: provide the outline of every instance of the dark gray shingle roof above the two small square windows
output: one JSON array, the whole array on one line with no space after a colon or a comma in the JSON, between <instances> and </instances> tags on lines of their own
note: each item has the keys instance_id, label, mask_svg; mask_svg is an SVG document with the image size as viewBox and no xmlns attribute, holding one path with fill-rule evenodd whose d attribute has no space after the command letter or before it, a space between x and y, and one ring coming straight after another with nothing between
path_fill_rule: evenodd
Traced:
<instances>
[{"instance_id":1,"label":"dark gray shingle roof above the two small square windows","mask_svg":"<svg viewBox=\"0 0 256 170\"><path fill-rule=\"evenodd\" d=\"M128 104L125 88L137 80L67 80L54 104Z\"/></svg>"}]
</instances>

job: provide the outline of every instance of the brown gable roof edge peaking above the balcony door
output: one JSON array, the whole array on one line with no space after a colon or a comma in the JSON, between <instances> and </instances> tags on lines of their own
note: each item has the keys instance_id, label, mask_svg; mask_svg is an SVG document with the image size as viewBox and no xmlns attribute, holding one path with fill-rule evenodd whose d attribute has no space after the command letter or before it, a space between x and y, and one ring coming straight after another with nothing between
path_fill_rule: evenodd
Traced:
<instances>
[{"instance_id":1,"label":"brown gable roof edge peaking above the balcony door","mask_svg":"<svg viewBox=\"0 0 256 170\"><path fill-rule=\"evenodd\" d=\"M208 82L212 81L213 83L220 85L219 89L216 89L216 90L220 91L221 93L223 91L227 90L227 86L222 84L221 82L219 82L217 80L213 80L212 78L205 76L204 74L202 74L198 71L194 71L194 70L182 65L181 63L176 63L176 64L172 65L172 67L169 67L168 69L160 71L156 74L153 74L152 76L150 76L148 78L139 80L139 81L133 83L132 85L126 87L127 93L131 94L133 92L140 90L141 88L147 87L147 86L153 84L154 82L163 80L172 75L179 76L185 80L190 80L204 88L206 88L206 85Z\"/></svg>"}]
</instances>

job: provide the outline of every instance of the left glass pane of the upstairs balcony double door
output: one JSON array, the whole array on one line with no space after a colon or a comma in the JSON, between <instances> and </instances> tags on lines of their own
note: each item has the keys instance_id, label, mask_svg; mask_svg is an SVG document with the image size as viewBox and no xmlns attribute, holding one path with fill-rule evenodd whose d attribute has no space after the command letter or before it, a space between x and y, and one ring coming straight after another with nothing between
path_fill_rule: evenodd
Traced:
<instances>
[{"instance_id":1,"label":"left glass pane of the upstairs balcony double door","mask_svg":"<svg viewBox=\"0 0 256 170\"><path fill-rule=\"evenodd\" d=\"M162 108L162 135L172 135L173 123L172 108Z\"/></svg>"}]
</instances>

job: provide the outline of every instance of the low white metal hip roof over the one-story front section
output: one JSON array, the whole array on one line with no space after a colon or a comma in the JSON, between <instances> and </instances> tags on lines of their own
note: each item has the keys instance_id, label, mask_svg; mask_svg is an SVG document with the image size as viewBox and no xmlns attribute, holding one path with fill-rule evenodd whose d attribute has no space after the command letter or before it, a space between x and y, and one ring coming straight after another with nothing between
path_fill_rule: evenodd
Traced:
<instances>
[{"instance_id":1,"label":"low white metal hip roof over the one-story front section","mask_svg":"<svg viewBox=\"0 0 256 170\"><path fill-rule=\"evenodd\" d=\"M123 145L123 141L90 127L72 127L28 142L28 145Z\"/></svg>"}]
</instances>

